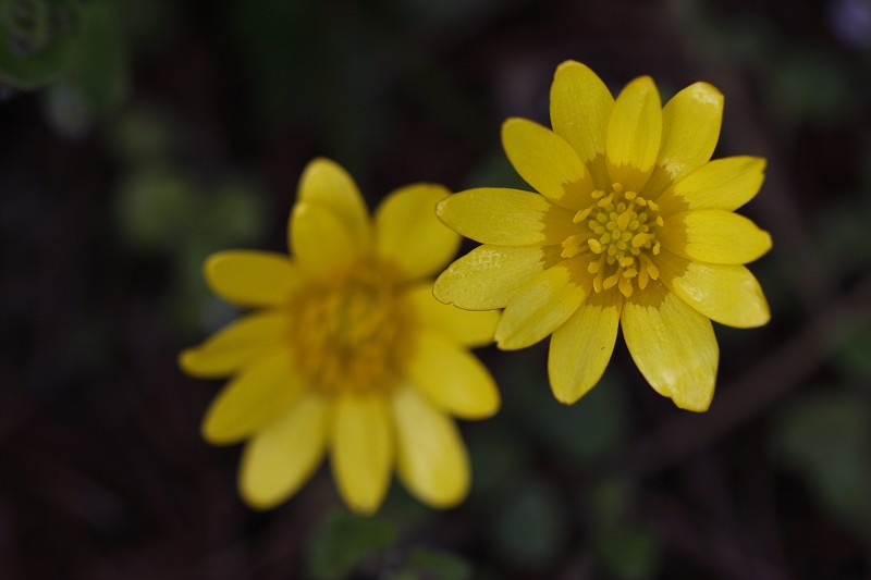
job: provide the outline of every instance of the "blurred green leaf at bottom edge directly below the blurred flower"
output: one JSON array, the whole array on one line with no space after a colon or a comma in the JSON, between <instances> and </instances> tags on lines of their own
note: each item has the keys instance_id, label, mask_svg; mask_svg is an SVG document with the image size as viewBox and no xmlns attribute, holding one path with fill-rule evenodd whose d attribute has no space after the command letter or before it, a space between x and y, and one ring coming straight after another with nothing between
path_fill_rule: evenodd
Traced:
<instances>
[{"instance_id":1,"label":"blurred green leaf at bottom edge directly below the blurred flower","mask_svg":"<svg viewBox=\"0 0 871 580\"><path fill-rule=\"evenodd\" d=\"M395 535L393 526L388 522L332 511L309 540L308 572L315 580L345 578L367 556L393 545Z\"/></svg>"}]
</instances>

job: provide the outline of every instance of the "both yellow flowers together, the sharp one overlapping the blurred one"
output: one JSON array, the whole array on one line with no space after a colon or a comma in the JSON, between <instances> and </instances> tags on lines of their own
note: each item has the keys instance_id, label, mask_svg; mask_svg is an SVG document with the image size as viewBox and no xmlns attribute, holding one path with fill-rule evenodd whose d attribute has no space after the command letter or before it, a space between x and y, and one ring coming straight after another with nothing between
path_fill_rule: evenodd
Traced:
<instances>
[{"instance_id":1,"label":"both yellow flowers together, the sharp one overlapping the blurred one","mask_svg":"<svg viewBox=\"0 0 871 580\"><path fill-rule=\"evenodd\" d=\"M453 418L498 410L495 383L468 351L493 340L517 349L551 335L551 387L571 404L599 381L622 328L657 392L708 408L719 360L711 321L769 320L743 264L771 248L770 236L733 213L759 190L764 160L710 161L723 96L706 83L663 108L645 76L615 100L569 61L550 99L552 129L523 119L502 129L537 193L417 184L370 220L351 176L318 159L291 212L293 258L240 250L206 262L220 297L255 310L182 353L181 366L232 375L203 433L248 440L238 481L250 505L294 494L328 449L357 513L378 509L394 466L428 505L462 501L469 460ZM461 235L482 245L444 270Z\"/></svg>"}]
</instances>

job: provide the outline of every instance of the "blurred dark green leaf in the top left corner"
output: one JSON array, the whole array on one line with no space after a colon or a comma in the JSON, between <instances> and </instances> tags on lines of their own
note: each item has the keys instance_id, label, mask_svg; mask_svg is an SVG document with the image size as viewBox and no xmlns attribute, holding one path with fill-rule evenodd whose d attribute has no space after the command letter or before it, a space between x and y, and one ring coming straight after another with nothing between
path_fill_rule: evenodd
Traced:
<instances>
[{"instance_id":1,"label":"blurred dark green leaf in the top left corner","mask_svg":"<svg viewBox=\"0 0 871 580\"><path fill-rule=\"evenodd\" d=\"M74 0L0 0L0 81L34 89L69 66L77 42Z\"/></svg>"}]
</instances>

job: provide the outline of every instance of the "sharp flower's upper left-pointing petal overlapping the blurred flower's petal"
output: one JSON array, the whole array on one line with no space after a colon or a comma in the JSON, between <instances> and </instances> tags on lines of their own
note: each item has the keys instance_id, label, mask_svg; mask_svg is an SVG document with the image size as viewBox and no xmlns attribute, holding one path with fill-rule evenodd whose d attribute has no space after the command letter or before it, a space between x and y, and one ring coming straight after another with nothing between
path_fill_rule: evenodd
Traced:
<instances>
[{"instance_id":1,"label":"sharp flower's upper left-pointing petal overlapping the blurred flower's petal","mask_svg":"<svg viewBox=\"0 0 871 580\"><path fill-rule=\"evenodd\" d=\"M436 209L462 235L496 246L561 244L577 233L575 211L519 189L481 187L455 194Z\"/></svg>"}]
</instances>

